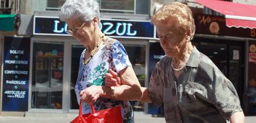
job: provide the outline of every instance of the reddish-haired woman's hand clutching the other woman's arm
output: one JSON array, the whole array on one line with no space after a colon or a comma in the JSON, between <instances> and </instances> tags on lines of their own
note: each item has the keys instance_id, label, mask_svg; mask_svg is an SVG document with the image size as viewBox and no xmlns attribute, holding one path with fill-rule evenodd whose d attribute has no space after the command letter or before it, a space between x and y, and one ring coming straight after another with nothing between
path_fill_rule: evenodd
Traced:
<instances>
[{"instance_id":1,"label":"reddish-haired woman's hand clutching the other woman's arm","mask_svg":"<svg viewBox=\"0 0 256 123\"><path fill-rule=\"evenodd\" d=\"M105 85L108 87L121 85L120 77L112 69L109 69L109 73L106 74Z\"/></svg>"}]
</instances>

